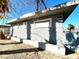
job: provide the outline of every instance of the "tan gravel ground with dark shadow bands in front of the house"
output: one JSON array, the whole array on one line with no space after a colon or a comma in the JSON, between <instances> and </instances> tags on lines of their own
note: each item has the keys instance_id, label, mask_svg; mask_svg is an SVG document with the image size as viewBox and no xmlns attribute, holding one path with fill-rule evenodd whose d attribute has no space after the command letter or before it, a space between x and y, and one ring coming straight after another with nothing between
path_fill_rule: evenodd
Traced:
<instances>
[{"instance_id":1,"label":"tan gravel ground with dark shadow bands in front of the house","mask_svg":"<svg viewBox=\"0 0 79 59\"><path fill-rule=\"evenodd\" d=\"M78 59L79 53L58 55L12 40L0 40L0 59Z\"/></svg>"}]
</instances>

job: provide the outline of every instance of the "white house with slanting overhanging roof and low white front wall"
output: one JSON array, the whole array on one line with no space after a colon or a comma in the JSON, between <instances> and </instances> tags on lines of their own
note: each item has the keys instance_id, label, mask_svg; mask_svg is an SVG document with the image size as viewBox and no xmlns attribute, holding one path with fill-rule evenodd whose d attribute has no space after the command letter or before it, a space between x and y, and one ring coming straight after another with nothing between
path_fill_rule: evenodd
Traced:
<instances>
[{"instance_id":1,"label":"white house with slanting overhanging roof and low white front wall","mask_svg":"<svg viewBox=\"0 0 79 59\"><path fill-rule=\"evenodd\" d=\"M25 14L8 22L11 25L10 34L13 36L11 39L65 54L63 23L77 5L78 2L60 4L38 14Z\"/></svg>"}]
</instances>

